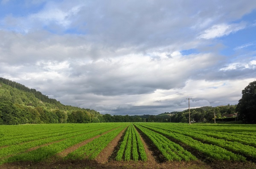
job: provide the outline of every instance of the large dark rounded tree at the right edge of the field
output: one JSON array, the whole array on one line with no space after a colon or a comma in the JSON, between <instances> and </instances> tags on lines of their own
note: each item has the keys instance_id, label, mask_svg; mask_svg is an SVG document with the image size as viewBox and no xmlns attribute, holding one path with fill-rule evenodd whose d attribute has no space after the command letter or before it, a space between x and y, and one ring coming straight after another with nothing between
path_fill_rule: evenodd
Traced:
<instances>
[{"instance_id":1,"label":"large dark rounded tree at the right edge of the field","mask_svg":"<svg viewBox=\"0 0 256 169\"><path fill-rule=\"evenodd\" d=\"M256 81L242 90L242 98L237 104L238 116L246 123L256 123Z\"/></svg>"}]
</instances>

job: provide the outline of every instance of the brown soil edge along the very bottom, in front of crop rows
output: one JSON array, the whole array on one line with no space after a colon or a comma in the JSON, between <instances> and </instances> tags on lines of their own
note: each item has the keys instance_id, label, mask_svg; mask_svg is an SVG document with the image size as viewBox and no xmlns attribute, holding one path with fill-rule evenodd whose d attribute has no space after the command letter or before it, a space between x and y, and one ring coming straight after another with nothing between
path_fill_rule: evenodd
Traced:
<instances>
[{"instance_id":1,"label":"brown soil edge along the very bottom, in front of crop rows","mask_svg":"<svg viewBox=\"0 0 256 169\"><path fill-rule=\"evenodd\" d=\"M216 161L213 164L206 165L201 161L163 162L157 164L142 161L109 161L102 164L95 160L67 160L40 163L16 162L3 164L0 166L0 169L256 169L256 165L250 162L239 163L229 161Z\"/></svg>"}]
</instances>

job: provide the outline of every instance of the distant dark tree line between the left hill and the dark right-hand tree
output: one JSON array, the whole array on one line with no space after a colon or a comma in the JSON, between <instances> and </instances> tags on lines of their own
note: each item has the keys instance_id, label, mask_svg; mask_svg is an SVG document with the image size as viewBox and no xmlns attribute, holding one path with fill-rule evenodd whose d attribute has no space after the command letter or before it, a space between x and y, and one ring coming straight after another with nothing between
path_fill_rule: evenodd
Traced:
<instances>
[{"instance_id":1,"label":"distant dark tree line between the left hill and the dark right-hand tree","mask_svg":"<svg viewBox=\"0 0 256 169\"><path fill-rule=\"evenodd\" d=\"M190 119L194 122L213 122L214 112L216 121L236 121L235 116L225 117L227 114L235 114L235 105L227 106L204 106L201 108L190 109ZM184 111L173 111L171 113L165 112L158 115L135 115L135 116L122 116L104 114L104 122L175 122L175 123L188 123L189 122L189 109Z\"/></svg>"}]
</instances>

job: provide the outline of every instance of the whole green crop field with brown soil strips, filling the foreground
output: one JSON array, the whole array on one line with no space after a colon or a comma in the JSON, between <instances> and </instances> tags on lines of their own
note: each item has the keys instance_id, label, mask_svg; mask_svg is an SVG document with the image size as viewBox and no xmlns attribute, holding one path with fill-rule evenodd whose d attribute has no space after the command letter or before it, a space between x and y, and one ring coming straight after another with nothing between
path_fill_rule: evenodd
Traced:
<instances>
[{"instance_id":1,"label":"whole green crop field with brown soil strips, filling the foreground","mask_svg":"<svg viewBox=\"0 0 256 169\"><path fill-rule=\"evenodd\" d=\"M0 169L256 168L255 140L256 125L3 125Z\"/></svg>"}]
</instances>

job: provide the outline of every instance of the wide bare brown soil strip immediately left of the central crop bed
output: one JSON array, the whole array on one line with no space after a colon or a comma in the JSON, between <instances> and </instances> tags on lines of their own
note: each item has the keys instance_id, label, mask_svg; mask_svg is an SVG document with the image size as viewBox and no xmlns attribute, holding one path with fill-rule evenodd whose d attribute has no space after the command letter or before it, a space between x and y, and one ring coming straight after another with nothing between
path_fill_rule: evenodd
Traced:
<instances>
[{"instance_id":1,"label":"wide bare brown soil strip immediately left of the central crop bed","mask_svg":"<svg viewBox=\"0 0 256 169\"><path fill-rule=\"evenodd\" d=\"M115 148L118 146L119 140L121 140L121 137L123 136L124 132L126 131L127 127L121 131L116 138L114 138L108 145L107 147L105 147L105 149L103 149L100 154L96 157L96 161L98 163L104 164L106 163L111 155L112 152L114 152Z\"/></svg>"}]
</instances>

